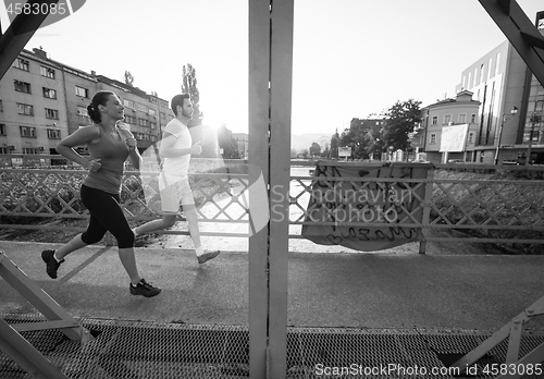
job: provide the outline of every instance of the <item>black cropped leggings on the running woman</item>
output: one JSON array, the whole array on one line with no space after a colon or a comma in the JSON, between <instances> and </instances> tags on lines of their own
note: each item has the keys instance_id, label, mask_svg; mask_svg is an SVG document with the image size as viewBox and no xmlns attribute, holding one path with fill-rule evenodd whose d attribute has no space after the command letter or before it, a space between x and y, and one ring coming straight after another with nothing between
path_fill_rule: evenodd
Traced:
<instances>
[{"instance_id":1,"label":"black cropped leggings on the running woman","mask_svg":"<svg viewBox=\"0 0 544 379\"><path fill-rule=\"evenodd\" d=\"M120 248L134 247L134 233L121 209L119 194L109 194L101 190L82 185L82 201L90 212L87 230L82 241L87 244L100 242L107 231L118 240Z\"/></svg>"}]
</instances>

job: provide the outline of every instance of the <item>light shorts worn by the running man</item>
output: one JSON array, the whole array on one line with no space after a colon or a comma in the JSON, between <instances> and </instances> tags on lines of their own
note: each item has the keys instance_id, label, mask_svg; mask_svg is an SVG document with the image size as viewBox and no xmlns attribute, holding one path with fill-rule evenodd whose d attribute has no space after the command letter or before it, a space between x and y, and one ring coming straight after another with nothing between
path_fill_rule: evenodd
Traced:
<instances>
[{"instance_id":1,"label":"light shorts worn by the running man","mask_svg":"<svg viewBox=\"0 0 544 379\"><path fill-rule=\"evenodd\" d=\"M189 179L178 175L159 175L161 208L163 212L177 212L182 206L195 205Z\"/></svg>"}]
</instances>

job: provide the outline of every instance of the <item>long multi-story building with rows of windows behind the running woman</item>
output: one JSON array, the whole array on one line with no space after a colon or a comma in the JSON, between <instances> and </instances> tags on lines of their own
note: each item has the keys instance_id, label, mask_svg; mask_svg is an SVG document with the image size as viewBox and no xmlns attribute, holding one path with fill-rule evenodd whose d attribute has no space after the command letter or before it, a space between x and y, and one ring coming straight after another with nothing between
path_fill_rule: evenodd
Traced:
<instances>
[{"instance_id":1,"label":"long multi-story building with rows of windows behind the running woman","mask_svg":"<svg viewBox=\"0 0 544 379\"><path fill-rule=\"evenodd\" d=\"M41 49L22 50L0 81L0 154L57 154L62 138L91 122L87 106L101 89L122 99L140 151L174 117L166 100L139 88L53 61Z\"/></svg>"}]
</instances>

